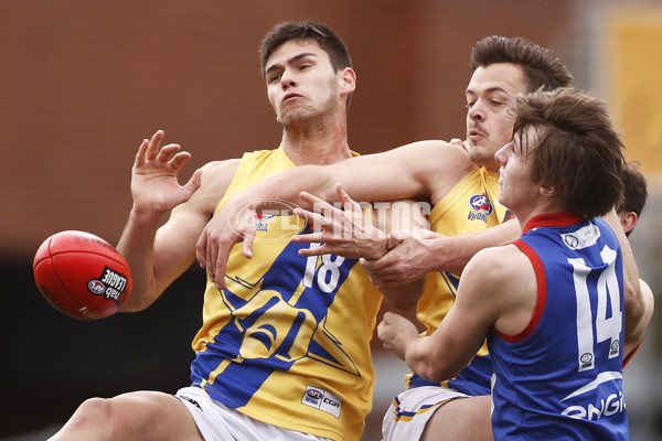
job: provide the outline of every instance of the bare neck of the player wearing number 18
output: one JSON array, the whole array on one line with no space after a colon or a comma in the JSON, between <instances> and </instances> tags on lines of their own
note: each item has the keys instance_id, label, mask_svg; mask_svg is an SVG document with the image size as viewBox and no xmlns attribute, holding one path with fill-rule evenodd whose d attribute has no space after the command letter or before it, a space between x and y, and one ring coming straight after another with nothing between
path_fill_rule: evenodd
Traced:
<instances>
[{"instance_id":1,"label":"bare neck of the player wearing number 18","mask_svg":"<svg viewBox=\"0 0 662 441\"><path fill-rule=\"evenodd\" d=\"M344 117L285 127L281 146L295 165L324 165L352 157Z\"/></svg>"}]
</instances>

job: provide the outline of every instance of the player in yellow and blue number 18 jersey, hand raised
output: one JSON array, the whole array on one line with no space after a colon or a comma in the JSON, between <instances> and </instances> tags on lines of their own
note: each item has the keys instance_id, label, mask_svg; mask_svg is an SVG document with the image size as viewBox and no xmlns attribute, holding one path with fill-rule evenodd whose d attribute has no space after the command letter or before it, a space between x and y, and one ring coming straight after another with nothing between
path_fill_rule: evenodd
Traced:
<instances>
[{"instance_id":1,"label":"player in yellow and blue number 18 jersey, hand raised","mask_svg":"<svg viewBox=\"0 0 662 441\"><path fill-rule=\"evenodd\" d=\"M118 245L134 277L122 311L149 306L186 270L201 232L229 195L300 164L353 155L346 109L355 73L342 40L322 23L287 22L266 35L260 55L284 128L277 149L209 163L180 185L190 154L161 147L162 131L140 146L134 206ZM53 440L360 439L372 405L369 342L382 297L356 258L300 256L313 247L291 240L309 230L305 222L269 214L253 222L258 256L233 251L225 289L207 279L192 385L174 396L143 390L86 400Z\"/></svg>"}]
</instances>

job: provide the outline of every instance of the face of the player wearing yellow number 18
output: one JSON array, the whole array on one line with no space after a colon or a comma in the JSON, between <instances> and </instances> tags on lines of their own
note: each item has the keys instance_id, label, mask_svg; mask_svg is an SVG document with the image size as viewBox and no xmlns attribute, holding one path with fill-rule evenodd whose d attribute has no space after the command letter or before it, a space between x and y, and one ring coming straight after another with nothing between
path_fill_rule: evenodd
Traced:
<instances>
[{"instance_id":1,"label":"face of the player wearing yellow number 18","mask_svg":"<svg viewBox=\"0 0 662 441\"><path fill-rule=\"evenodd\" d=\"M341 103L339 75L317 42L289 41L266 63L267 95L285 126L319 118Z\"/></svg>"}]
</instances>

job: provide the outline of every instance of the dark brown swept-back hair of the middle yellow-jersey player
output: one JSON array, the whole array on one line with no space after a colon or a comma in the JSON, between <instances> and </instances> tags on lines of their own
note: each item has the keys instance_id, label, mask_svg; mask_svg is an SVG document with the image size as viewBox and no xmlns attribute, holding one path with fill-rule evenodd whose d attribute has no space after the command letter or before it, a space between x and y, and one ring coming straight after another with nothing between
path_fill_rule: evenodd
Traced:
<instances>
[{"instance_id":1,"label":"dark brown swept-back hair of the middle yellow-jersey player","mask_svg":"<svg viewBox=\"0 0 662 441\"><path fill-rule=\"evenodd\" d=\"M511 63L522 67L527 92L552 90L567 87L573 74L548 49L541 47L521 36L485 36L471 51L471 69L495 63Z\"/></svg>"}]
</instances>

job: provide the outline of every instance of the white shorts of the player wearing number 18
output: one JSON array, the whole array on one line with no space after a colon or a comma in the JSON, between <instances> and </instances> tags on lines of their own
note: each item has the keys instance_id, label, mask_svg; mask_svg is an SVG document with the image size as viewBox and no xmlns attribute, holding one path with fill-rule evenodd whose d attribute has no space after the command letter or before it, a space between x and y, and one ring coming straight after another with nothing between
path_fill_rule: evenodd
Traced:
<instances>
[{"instance_id":1,"label":"white shorts of the player wearing number 18","mask_svg":"<svg viewBox=\"0 0 662 441\"><path fill-rule=\"evenodd\" d=\"M199 387L183 387L174 397L186 406L205 441L331 441L253 419Z\"/></svg>"}]
</instances>

